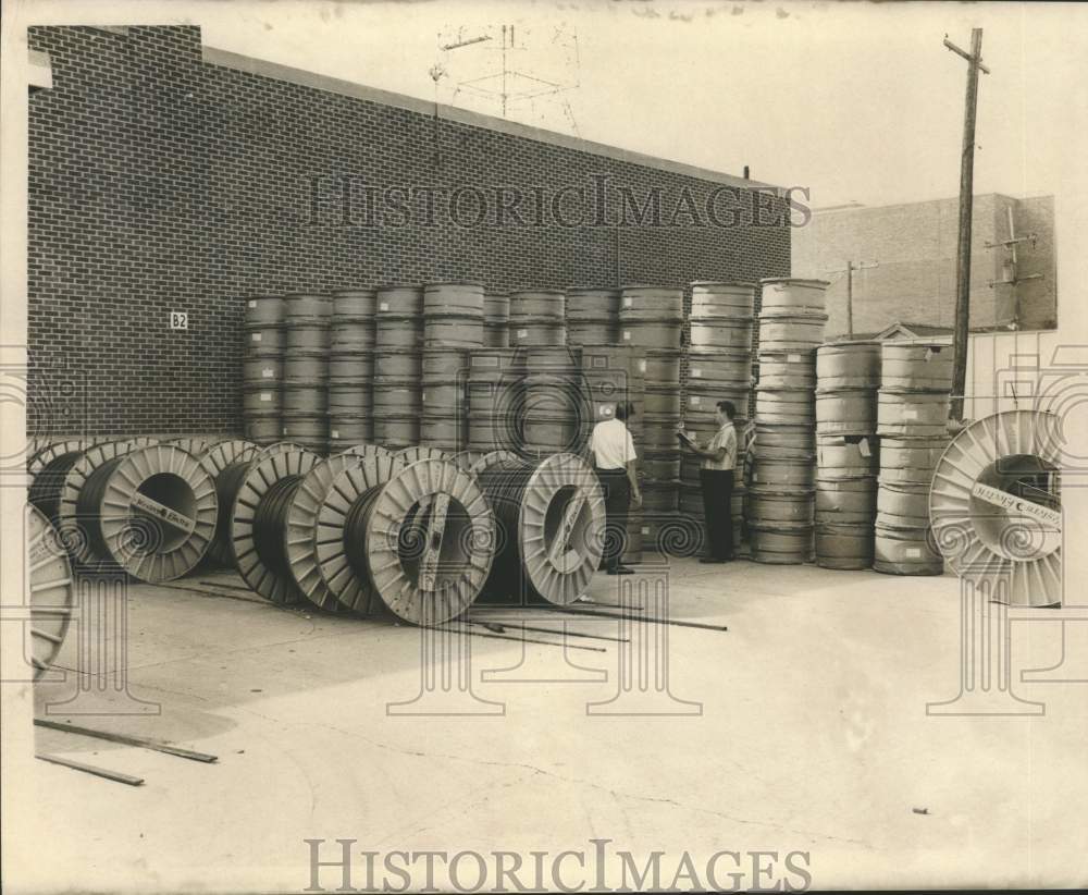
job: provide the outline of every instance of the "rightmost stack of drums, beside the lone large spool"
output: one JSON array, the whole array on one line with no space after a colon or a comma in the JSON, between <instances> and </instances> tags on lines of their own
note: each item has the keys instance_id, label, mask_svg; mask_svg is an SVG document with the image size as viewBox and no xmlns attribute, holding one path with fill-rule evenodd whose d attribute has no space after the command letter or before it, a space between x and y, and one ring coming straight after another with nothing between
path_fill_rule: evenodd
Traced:
<instances>
[{"instance_id":1,"label":"rightmost stack of drums, beside the lone large spool","mask_svg":"<svg viewBox=\"0 0 1088 895\"><path fill-rule=\"evenodd\" d=\"M930 538L929 489L949 443L952 348L939 342L886 342L880 366L873 568L892 575L940 575L944 562Z\"/></svg>"}]
</instances>

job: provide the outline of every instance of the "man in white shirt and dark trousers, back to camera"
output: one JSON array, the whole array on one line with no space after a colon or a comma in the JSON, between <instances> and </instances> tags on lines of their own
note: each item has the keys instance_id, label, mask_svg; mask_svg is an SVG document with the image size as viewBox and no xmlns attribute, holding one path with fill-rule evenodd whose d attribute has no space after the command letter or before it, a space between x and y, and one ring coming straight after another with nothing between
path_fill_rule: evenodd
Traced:
<instances>
[{"instance_id":1,"label":"man in white shirt and dark trousers, back to camera","mask_svg":"<svg viewBox=\"0 0 1088 895\"><path fill-rule=\"evenodd\" d=\"M627 542L627 511L634 501L642 503L639 491L638 461L634 439L626 420L634 413L627 403L616 405L614 419L606 419L593 427L590 452L593 465L605 491L605 555L604 564L609 575L632 575L634 569L620 560Z\"/></svg>"}]
</instances>

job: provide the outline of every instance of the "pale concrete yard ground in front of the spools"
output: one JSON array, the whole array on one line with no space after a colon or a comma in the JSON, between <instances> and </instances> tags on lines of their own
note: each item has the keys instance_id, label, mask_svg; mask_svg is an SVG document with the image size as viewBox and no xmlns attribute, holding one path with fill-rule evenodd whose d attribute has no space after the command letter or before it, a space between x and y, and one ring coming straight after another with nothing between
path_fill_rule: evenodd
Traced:
<instances>
[{"instance_id":1,"label":"pale concrete yard ground in front of the spools","mask_svg":"<svg viewBox=\"0 0 1088 895\"><path fill-rule=\"evenodd\" d=\"M1060 661L1059 623L1012 625L1014 690L1043 701L1043 715L931 716L927 703L960 690L954 577L747 561L643 569L668 580L670 617L728 632L578 618L570 630L632 639L571 637L591 649L565 651L470 637L461 642L471 647L472 691L440 687L429 699L417 699L421 649L448 645L444 635L279 609L223 574L198 576L212 585L132 587L131 698L110 696L113 714L79 715L90 703L65 702L77 691L70 673L37 687L37 713L166 739L219 761L38 728L39 750L146 783L35 762L36 813L24 823L48 836L48 849L24 883L300 891L310 884L308 838L327 841L322 860L338 858L337 838L357 839L357 856L554 856L606 838L609 853L630 851L640 868L664 851L660 886L673 882L684 853L703 886L729 886L731 872L743 887L800 886L799 868L817 888L1088 880L1079 820L1088 685L1019 681L1024 667ZM615 602L619 580L630 579L597 576L591 598ZM528 624L558 629L562 617L535 613ZM61 655L70 670L76 641ZM652 667L667 667L671 696L653 675L646 689L621 690L625 669ZM1011 696L990 701L1026 708ZM158 714L131 713L154 703ZM475 714L457 714L466 710ZM720 861L708 881L707 859L721 850L740 853L739 862ZM751 850L778 855L743 854ZM787 853L804 853L791 857L793 870ZM771 869L756 879L753 861ZM608 885L631 885L620 859L605 866ZM462 868L467 887L474 867ZM560 882L593 884L595 871L566 867ZM362 857L354 870L361 888ZM440 873L436 885L448 888L446 879ZM522 880L535 885L528 871ZM335 890L339 870L322 869L319 882ZM544 886L556 883L545 876Z\"/></svg>"}]
</instances>

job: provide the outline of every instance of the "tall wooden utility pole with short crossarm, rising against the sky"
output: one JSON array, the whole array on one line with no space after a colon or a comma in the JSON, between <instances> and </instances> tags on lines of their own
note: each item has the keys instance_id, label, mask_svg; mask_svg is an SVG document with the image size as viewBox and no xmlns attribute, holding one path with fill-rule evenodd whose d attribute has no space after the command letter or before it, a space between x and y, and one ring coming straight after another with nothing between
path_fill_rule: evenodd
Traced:
<instances>
[{"instance_id":1,"label":"tall wooden utility pole with short crossarm, rising against the sky","mask_svg":"<svg viewBox=\"0 0 1088 895\"><path fill-rule=\"evenodd\" d=\"M970 218L975 177L975 110L978 106L978 73L982 64L982 29L970 29L970 52L944 38L944 46L967 60L967 97L963 115L963 150L960 155L960 243L956 246L955 329L952 336L952 403L949 428L963 422L963 396L967 383L967 332L970 324Z\"/></svg>"}]
</instances>

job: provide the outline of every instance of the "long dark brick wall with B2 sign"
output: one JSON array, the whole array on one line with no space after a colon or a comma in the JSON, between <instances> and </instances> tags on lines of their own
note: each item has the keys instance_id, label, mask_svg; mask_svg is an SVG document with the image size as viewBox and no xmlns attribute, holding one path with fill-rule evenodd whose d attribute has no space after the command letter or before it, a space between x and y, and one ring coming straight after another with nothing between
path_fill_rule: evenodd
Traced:
<instances>
[{"instance_id":1,"label":"long dark brick wall with B2 sign","mask_svg":"<svg viewBox=\"0 0 1088 895\"><path fill-rule=\"evenodd\" d=\"M683 214L675 226L497 225L494 207L482 225L428 225L423 198L408 225L371 225L357 193L345 221L349 177L486 197L592 191L606 175L607 219L625 186L640 203L659 189L666 221L684 195L705 209L722 184L209 64L196 27L33 28L30 46L49 53L53 77L29 101L39 434L238 431L238 328L254 294L452 278L611 285L617 269L621 282L679 285L790 270L784 225ZM738 199L750 218L752 196ZM187 331L170 330L171 310L188 312Z\"/></svg>"}]
</instances>

